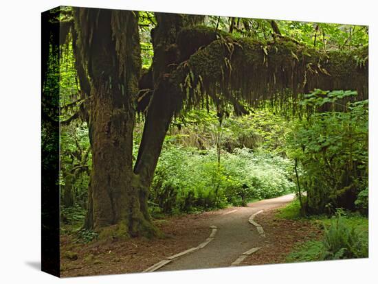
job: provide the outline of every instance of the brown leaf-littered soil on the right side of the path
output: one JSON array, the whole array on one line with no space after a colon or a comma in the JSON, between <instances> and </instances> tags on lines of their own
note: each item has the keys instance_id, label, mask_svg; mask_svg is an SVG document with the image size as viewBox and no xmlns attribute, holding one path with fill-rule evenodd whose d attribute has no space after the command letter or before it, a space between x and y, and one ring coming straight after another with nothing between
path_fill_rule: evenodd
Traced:
<instances>
[{"instance_id":1,"label":"brown leaf-littered soil on the right side of the path","mask_svg":"<svg viewBox=\"0 0 378 284\"><path fill-rule=\"evenodd\" d=\"M277 217L278 209L264 211L256 216L263 226L265 238L260 237L256 246L261 249L247 257L241 265L285 263L293 247L304 241L320 239L322 229L309 220L286 220Z\"/></svg>"}]
</instances>

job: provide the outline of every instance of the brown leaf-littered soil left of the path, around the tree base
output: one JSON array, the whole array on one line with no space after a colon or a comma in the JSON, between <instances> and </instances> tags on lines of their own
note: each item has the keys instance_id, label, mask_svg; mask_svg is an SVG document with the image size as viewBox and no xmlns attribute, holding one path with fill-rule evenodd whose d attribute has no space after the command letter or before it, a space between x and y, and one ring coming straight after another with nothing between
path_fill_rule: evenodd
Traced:
<instances>
[{"instance_id":1,"label":"brown leaf-littered soil left of the path, around the tree base","mask_svg":"<svg viewBox=\"0 0 378 284\"><path fill-rule=\"evenodd\" d=\"M137 237L78 244L74 243L73 236L63 235L60 238L61 276L142 272L165 257L204 241L211 233L211 229L204 225L206 222L203 222L207 215L191 214L155 221L155 225L166 235L164 239ZM77 254L76 260L67 258L72 253Z\"/></svg>"}]
</instances>

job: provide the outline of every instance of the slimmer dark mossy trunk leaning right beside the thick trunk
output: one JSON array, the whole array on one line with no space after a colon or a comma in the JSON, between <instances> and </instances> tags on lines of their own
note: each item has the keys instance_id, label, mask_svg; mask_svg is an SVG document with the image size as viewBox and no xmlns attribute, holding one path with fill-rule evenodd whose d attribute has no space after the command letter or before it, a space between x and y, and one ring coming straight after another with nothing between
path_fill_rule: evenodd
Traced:
<instances>
[{"instance_id":1,"label":"slimmer dark mossy trunk leaning right beside the thick trunk","mask_svg":"<svg viewBox=\"0 0 378 284\"><path fill-rule=\"evenodd\" d=\"M197 25L203 16L155 13L157 26L151 32L154 57L151 67L153 95L148 105L142 141L134 172L140 178L140 204L142 213L148 216L148 190L153 180L157 161L162 151L164 137L181 104L177 84L170 80L170 73L182 61L177 46L179 33L184 27Z\"/></svg>"}]
</instances>

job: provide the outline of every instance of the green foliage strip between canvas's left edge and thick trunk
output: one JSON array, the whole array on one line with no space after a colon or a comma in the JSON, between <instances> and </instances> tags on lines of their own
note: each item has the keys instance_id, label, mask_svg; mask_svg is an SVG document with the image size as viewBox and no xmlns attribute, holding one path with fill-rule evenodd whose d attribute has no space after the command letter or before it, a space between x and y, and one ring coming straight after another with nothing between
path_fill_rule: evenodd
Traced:
<instances>
[{"instance_id":1,"label":"green foliage strip between canvas's left edge and thick trunk","mask_svg":"<svg viewBox=\"0 0 378 284\"><path fill-rule=\"evenodd\" d=\"M65 206L87 204L91 150L87 123L80 121L82 99L72 47L72 34L67 32L64 45L60 45L58 88L60 104L60 196Z\"/></svg>"}]
</instances>

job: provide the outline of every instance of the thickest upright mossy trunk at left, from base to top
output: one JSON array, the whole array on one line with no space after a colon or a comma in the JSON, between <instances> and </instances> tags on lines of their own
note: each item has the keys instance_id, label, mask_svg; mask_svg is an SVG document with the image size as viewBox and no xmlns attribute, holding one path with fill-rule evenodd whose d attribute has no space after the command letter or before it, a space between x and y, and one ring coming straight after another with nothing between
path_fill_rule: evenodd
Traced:
<instances>
[{"instance_id":1,"label":"thickest upright mossy trunk at left, from base to top","mask_svg":"<svg viewBox=\"0 0 378 284\"><path fill-rule=\"evenodd\" d=\"M134 100L140 77L137 13L75 10L78 49L91 79L92 170L85 227L104 237L151 235L133 173Z\"/></svg>"}]
</instances>

